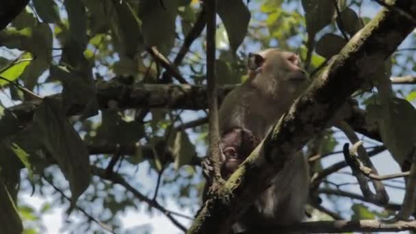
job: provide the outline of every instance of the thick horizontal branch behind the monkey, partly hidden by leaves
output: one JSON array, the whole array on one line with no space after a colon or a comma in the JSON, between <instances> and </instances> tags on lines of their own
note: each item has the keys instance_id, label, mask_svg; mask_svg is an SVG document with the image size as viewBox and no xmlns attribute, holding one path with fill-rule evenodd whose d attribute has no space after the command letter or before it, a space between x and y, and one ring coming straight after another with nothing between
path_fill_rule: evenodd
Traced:
<instances>
[{"instance_id":1,"label":"thick horizontal branch behind the monkey, partly hidden by leaves","mask_svg":"<svg viewBox=\"0 0 416 234\"><path fill-rule=\"evenodd\" d=\"M235 86L224 86L218 89L218 101L233 90ZM107 109L110 101L116 101L120 109L207 109L207 87L190 85L160 85L160 84L134 84L126 85L113 79L108 82L97 83L97 99L99 108ZM60 98L60 94L53 95ZM30 122L34 110L40 101L27 101L14 105L9 109L17 116L21 125ZM73 105L68 108L68 116L81 114L83 106ZM365 120L366 112L363 109L352 108L352 115L348 120L349 125L368 138L381 142L377 126L369 125Z\"/></svg>"}]
</instances>

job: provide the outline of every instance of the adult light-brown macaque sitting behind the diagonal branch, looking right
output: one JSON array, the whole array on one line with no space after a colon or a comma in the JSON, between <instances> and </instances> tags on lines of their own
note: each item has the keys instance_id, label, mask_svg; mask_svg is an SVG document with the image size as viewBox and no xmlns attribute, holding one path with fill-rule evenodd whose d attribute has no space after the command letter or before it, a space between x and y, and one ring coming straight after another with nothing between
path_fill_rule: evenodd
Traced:
<instances>
[{"instance_id":1,"label":"adult light-brown macaque sitting behind the diagonal branch, looking right","mask_svg":"<svg viewBox=\"0 0 416 234\"><path fill-rule=\"evenodd\" d=\"M288 51L267 49L257 54L250 53L248 80L231 91L220 107L223 177L229 176L237 168L231 166L231 157L227 156L228 151L224 148L233 145L230 134L234 134L232 139L235 142L246 142L244 138L237 137L236 129L252 134L254 139L258 140L257 146L304 90L307 77L299 65L299 57ZM226 145L221 144L224 140ZM250 151L254 148L250 148ZM250 155L244 151L233 151L246 154L238 155L239 159L245 159ZM302 220L309 192L308 166L302 153L291 158L274 178L272 185L233 226L233 231L251 232L276 224L287 225ZM206 172L207 164L203 166Z\"/></svg>"}]
</instances>

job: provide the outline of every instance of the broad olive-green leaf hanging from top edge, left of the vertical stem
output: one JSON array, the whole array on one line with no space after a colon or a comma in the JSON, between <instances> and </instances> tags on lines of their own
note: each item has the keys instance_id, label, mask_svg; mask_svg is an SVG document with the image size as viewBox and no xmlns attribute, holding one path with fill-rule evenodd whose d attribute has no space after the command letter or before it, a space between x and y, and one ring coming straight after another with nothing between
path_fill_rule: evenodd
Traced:
<instances>
[{"instance_id":1,"label":"broad olive-green leaf hanging from top edge, left of the vertical stem","mask_svg":"<svg viewBox=\"0 0 416 234\"><path fill-rule=\"evenodd\" d=\"M143 39L146 47L157 46L168 52L174 45L177 0L143 0L139 4L139 16L142 20Z\"/></svg>"}]
</instances>

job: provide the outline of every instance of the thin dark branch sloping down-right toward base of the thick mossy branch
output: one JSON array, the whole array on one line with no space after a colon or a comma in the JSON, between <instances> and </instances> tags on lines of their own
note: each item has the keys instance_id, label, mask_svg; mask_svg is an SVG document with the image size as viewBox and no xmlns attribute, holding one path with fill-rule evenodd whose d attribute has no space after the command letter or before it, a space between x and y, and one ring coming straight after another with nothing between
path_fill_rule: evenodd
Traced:
<instances>
[{"instance_id":1,"label":"thin dark branch sloping down-right toward base of the thick mossy branch","mask_svg":"<svg viewBox=\"0 0 416 234\"><path fill-rule=\"evenodd\" d=\"M131 192L136 198L138 198L139 200L144 201L149 206L151 206L151 207L153 207L153 208L161 211L161 213L164 213L164 215L174 225L176 225L179 229L181 229L184 232L186 231L185 226L183 226L179 221L177 221L175 218L172 217L172 214L173 213L171 211L168 211L163 206L159 205L159 203L157 203L156 200L151 200L150 198L144 196L144 194L142 194L141 192L139 192L138 190L136 190L133 186L131 186L129 183L127 183L127 181L125 181L125 179L122 178L120 174L117 174L117 173L107 174L107 172L105 171L105 169L98 168L96 166L92 166L91 167L91 172L92 172L92 174L100 177L101 179L106 179L108 181L112 181L112 183L116 183L118 185L122 185L122 187L125 187L125 189L127 191Z\"/></svg>"}]
</instances>

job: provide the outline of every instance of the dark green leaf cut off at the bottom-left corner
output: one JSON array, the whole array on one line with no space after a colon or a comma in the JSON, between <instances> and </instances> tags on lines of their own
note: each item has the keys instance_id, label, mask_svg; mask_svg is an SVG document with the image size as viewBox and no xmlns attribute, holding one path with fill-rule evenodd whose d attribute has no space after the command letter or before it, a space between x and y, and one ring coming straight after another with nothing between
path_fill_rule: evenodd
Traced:
<instances>
[{"instance_id":1,"label":"dark green leaf cut off at the bottom-left corner","mask_svg":"<svg viewBox=\"0 0 416 234\"><path fill-rule=\"evenodd\" d=\"M1 178L0 178L1 179ZM0 181L0 233L22 233L23 224L8 188Z\"/></svg>"}]
</instances>

